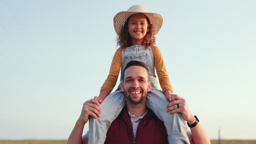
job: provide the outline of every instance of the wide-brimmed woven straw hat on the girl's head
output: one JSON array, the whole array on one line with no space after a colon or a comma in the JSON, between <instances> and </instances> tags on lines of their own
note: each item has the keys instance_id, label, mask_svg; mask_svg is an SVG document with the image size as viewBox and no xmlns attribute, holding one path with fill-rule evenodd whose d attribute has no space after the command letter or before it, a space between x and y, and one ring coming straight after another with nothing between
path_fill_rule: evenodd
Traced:
<instances>
[{"instance_id":1,"label":"wide-brimmed woven straw hat on the girl's head","mask_svg":"<svg viewBox=\"0 0 256 144\"><path fill-rule=\"evenodd\" d=\"M119 35L128 17L139 13L142 13L148 17L150 24L152 24L154 27L154 34L158 33L162 27L162 16L156 13L148 13L148 9L140 4L132 5L127 11L121 11L114 16L115 32Z\"/></svg>"}]
</instances>

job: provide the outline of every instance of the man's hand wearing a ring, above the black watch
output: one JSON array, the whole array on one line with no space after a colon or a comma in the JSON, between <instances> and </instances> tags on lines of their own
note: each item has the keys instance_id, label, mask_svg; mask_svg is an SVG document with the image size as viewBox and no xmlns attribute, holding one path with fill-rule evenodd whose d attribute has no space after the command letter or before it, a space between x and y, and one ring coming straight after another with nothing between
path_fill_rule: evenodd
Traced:
<instances>
[{"instance_id":1,"label":"man's hand wearing a ring, above the black watch","mask_svg":"<svg viewBox=\"0 0 256 144\"><path fill-rule=\"evenodd\" d=\"M178 94L171 94L171 102L166 106L166 112L171 114L181 112L183 118L188 123L194 123L196 121L195 117L189 110L188 104L184 98L180 97Z\"/></svg>"}]
</instances>

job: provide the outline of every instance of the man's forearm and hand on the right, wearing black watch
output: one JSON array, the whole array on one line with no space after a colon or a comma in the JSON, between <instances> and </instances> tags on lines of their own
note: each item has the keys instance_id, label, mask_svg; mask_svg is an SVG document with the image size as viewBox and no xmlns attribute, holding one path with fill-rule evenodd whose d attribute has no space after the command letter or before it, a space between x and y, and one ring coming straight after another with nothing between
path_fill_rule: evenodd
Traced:
<instances>
[{"instance_id":1,"label":"man's forearm and hand on the right, wearing black watch","mask_svg":"<svg viewBox=\"0 0 256 144\"><path fill-rule=\"evenodd\" d=\"M178 107L178 105L179 107ZM188 104L186 103L185 99L180 97L177 94L172 94L171 96L171 102L167 105L166 111L170 112L171 114L181 112L183 118L185 121L187 121L189 124L193 124L196 119L190 112L188 108ZM197 123L197 125L193 128L190 128L192 136L193 136L193 142L194 144L206 144L211 143L210 139L208 138L206 131L202 128L200 123Z\"/></svg>"}]
</instances>

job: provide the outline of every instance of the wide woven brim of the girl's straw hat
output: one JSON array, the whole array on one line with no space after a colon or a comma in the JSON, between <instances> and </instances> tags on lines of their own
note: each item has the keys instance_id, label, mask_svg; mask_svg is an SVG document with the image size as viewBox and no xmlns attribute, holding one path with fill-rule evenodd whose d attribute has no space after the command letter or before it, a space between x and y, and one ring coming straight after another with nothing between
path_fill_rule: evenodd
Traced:
<instances>
[{"instance_id":1,"label":"wide woven brim of the girl's straw hat","mask_svg":"<svg viewBox=\"0 0 256 144\"><path fill-rule=\"evenodd\" d=\"M126 20L133 14L144 14L148 17L150 24L154 27L154 35L157 34L162 27L162 16L156 13L142 13L142 12L131 12L121 11L114 16L114 28L115 32L119 35L121 29L124 27Z\"/></svg>"}]
</instances>

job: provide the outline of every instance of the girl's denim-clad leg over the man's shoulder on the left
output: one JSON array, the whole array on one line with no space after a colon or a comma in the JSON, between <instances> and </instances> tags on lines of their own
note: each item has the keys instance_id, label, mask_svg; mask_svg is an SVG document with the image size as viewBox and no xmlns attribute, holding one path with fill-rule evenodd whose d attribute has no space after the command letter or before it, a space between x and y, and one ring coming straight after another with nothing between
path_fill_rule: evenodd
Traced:
<instances>
[{"instance_id":1,"label":"girl's denim-clad leg over the man's shoulder on the left","mask_svg":"<svg viewBox=\"0 0 256 144\"><path fill-rule=\"evenodd\" d=\"M125 105L124 93L116 91L109 94L101 103L101 117L89 119L89 144L101 144L106 140L110 124L118 117Z\"/></svg>"}]
</instances>

